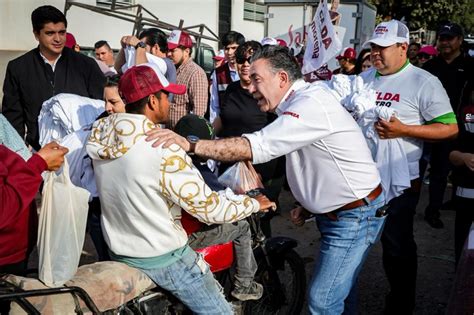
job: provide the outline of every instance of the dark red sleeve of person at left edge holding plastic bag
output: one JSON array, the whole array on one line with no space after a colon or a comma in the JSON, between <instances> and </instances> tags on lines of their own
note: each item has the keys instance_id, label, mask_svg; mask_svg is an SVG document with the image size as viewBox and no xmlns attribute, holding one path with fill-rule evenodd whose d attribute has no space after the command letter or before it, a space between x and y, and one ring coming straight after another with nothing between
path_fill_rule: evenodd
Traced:
<instances>
[{"instance_id":1,"label":"dark red sleeve of person at left edge holding plastic bag","mask_svg":"<svg viewBox=\"0 0 474 315\"><path fill-rule=\"evenodd\" d=\"M0 146L0 229L7 227L34 200L46 162L34 154L27 162Z\"/></svg>"}]
</instances>

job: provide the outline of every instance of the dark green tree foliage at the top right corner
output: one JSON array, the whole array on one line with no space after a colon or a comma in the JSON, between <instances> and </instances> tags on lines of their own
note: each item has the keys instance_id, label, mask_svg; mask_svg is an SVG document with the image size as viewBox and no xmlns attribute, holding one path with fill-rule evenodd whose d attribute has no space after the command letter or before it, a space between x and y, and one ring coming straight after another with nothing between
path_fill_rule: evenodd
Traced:
<instances>
[{"instance_id":1,"label":"dark green tree foliage at the top right corner","mask_svg":"<svg viewBox=\"0 0 474 315\"><path fill-rule=\"evenodd\" d=\"M421 27L436 30L445 21L463 26L466 34L474 33L473 0L368 0L377 7L377 22L402 19L410 30Z\"/></svg>"}]
</instances>

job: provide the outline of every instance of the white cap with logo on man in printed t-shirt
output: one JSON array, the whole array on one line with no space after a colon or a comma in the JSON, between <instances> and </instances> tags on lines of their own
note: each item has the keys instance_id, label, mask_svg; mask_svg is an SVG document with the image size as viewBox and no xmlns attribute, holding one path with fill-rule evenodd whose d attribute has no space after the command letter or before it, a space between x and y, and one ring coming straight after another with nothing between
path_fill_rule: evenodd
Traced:
<instances>
[{"instance_id":1,"label":"white cap with logo on man in printed t-shirt","mask_svg":"<svg viewBox=\"0 0 474 315\"><path fill-rule=\"evenodd\" d=\"M375 44L382 47L392 46L397 43L409 43L410 31L408 27L398 20L382 22L375 27L372 37L364 43Z\"/></svg>"}]
</instances>

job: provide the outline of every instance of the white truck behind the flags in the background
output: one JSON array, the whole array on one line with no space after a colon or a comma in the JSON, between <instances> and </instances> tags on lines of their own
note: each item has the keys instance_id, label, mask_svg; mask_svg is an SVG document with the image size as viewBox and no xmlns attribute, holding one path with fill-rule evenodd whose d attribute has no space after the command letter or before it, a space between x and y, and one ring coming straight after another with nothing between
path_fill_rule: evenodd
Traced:
<instances>
[{"instance_id":1,"label":"white truck behind the flags in the background","mask_svg":"<svg viewBox=\"0 0 474 315\"><path fill-rule=\"evenodd\" d=\"M318 4L319 1L308 0L265 0L265 36L283 39L289 47L304 45ZM375 28L376 7L366 0L335 0L332 7L339 14L335 29L342 47L359 52ZM329 67L334 68L331 62Z\"/></svg>"}]
</instances>

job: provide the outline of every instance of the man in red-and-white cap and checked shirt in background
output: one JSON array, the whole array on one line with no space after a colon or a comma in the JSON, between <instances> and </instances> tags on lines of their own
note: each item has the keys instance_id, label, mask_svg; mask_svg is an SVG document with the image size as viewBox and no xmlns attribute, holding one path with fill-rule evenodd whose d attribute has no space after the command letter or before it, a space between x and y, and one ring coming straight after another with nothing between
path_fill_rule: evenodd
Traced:
<instances>
[{"instance_id":1,"label":"man in red-and-white cap and checked shirt in background","mask_svg":"<svg viewBox=\"0 0 474 315\"><path fill-rule=\"evenodd\" d=\"M191 58L193 41L188 33L174 30L168 37L168 57L176 66L176 83L186 86L182 95L175 95L170 106L167 127L174 128L186 114L204 116L207 110L208 81L204 70Z\"/></svg>"}]
</instances>

